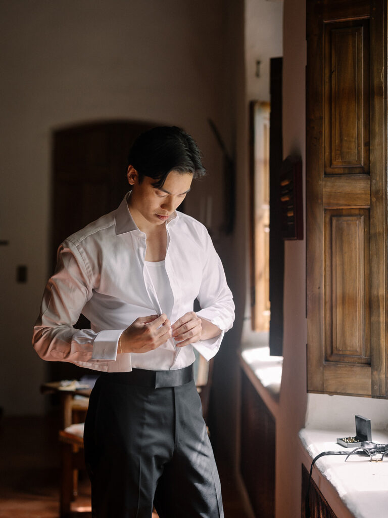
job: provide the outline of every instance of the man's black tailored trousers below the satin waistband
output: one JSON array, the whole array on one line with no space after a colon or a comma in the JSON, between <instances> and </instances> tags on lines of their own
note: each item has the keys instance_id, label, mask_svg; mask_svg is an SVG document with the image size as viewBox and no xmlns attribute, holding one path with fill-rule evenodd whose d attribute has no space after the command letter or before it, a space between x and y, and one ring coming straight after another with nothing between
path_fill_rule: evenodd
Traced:
<instances>
[{"instance_id":1,"label":"man's black tailored trousers below the satin waistband","mask_svg":"<svg viewBox=\"0 0 388 518\"><path fill-rule=\"evenodd\" d=\"M109 376L97 380L85 421L93 517L151 518L155 505L160 518L223 518L194 381L154 389Z\"/></svg>"}]
</instances>

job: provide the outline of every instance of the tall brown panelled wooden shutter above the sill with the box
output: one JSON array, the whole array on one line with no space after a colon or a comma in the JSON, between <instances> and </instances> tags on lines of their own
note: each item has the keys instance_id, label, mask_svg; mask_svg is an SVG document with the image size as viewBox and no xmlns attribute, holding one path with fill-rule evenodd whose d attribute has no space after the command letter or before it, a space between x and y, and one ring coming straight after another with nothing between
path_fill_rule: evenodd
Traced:
<instances>
[{"instance_id":1,"label":"tall brown panelled wooden shutter above the sill with the box","mask_svg":"<svg viewBox=\"0 0 388 518\"><path fill-rule=\"evenodd\" d=\"M385 4L307 2L312 392L386 397Z\"/></svg>"}]
</instances>

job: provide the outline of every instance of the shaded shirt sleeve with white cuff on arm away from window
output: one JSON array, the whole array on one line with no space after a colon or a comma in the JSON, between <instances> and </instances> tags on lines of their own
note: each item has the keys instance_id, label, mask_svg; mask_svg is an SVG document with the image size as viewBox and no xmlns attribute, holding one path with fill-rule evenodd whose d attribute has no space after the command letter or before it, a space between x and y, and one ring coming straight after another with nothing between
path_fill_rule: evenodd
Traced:
<instances>
[{"instance_id":1,"label":"shaded shirt sleeve with white cuff on arm away from window","mask_svg":"<svg viewBox=\"0 0 388 518\"><path fill-rule=\"evenodd\" d=\"M122 329L75 329L81 311L92 297L91 269L79 248L65 241L58 249L55 274L44 290L34 326L33 346L48 361L71 362L103 369L115 361ZM105 369L103 369L105 370Z\"/></svg>"}]
</instances>

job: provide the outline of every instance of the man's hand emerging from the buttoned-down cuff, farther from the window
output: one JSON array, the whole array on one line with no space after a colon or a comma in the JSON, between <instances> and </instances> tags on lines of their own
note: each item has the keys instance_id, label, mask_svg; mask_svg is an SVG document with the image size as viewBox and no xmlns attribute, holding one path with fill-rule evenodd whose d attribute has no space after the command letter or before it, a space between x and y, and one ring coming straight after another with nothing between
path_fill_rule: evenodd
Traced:
<instances>
[{"instance_id":1,"label":"man's hand emerging from the buttoned-down cuff, farther from the window","mask_svg":"<svg viewBox=\"0 0 388 518\"><path fill-rule=\"evenodd\" d=\"M165 313L139 316L121 334L117 352L146 353L171 338L171 324Z\"/></svg>"}]
</instances>

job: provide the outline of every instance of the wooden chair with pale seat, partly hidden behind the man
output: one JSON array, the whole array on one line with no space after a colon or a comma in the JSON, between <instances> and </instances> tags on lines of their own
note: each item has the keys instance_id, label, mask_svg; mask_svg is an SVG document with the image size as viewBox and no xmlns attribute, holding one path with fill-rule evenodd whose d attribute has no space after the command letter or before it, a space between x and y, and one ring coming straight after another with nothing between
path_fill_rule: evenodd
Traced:
<instances>
[{"instance_id":1,"label":"wooden chair with pale seat, partly hidden behind the man","mask_svg":"<svg viewBox=\"0 0 388 518\"><path fill-rule=\"evenodd\" d=\"M195 353L194 378L202 402L203 418L206 421L212 386L213 359L207 362L197 351ZM77 409L75 400L74 407L73 410ZM80 412L85 412L85 401L82 402L79 410ZM84 423L77 423L59 431L59 442L61 443L60 518L70 518L72 516L71 502L77 498L78 494L78 471L85 469L83 429Z\"/></svg>"}]
</instances>

